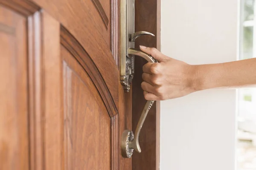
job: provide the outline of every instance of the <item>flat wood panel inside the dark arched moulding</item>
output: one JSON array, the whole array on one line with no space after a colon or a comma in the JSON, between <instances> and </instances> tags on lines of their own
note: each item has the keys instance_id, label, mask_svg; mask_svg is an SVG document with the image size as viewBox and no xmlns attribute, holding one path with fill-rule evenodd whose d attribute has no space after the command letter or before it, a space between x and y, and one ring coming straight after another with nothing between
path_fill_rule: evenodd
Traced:
<instances>
[{"instance_id":1,"label":"flat wood panel inside the dark arched moulding","mask_svg":"<svg viewBox=\"0 0 256 170\"><path fill-rule=\"evenodd\" d=\"M64 59L64 169L110 170L113 145L108 111L84 68L63 46L61 56Z\"/></svg>"}]
</instances>

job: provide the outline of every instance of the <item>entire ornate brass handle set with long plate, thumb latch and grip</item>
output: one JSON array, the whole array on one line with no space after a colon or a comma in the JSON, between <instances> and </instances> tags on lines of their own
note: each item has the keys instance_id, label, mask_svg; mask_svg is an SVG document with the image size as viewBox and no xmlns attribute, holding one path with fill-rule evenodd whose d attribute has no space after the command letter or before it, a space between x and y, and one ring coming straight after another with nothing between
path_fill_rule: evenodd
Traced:
<instances>
[{"instance_id":1,"label":"entire ornate brass handle set with long plate, thumb latch and grip","mask_svg":"<svg viewBox=\"0 0 256 170\"><path fill-rule=\"evenodd\" d=\"M157 62L151 55L134 49L134 41L142 35L154 36L154 34L147 31L134 33L134 0L120 0L120 81L125 92L130 91L130 85L134 77L134 56L143 57L148 62ZM141 152L139 144L140 130L153 103L154 101L146 102L135 134L131 130L125 130L122 133L121 153L123 157L130 158L134 150Z\"/></svg>"}]
</instances>

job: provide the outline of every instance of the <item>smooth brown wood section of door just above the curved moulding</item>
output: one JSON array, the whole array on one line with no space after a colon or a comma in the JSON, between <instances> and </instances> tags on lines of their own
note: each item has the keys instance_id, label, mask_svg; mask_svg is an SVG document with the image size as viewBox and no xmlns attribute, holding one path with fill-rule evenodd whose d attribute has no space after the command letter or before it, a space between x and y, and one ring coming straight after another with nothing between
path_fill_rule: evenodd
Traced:
<instances>
[{"instance_id":1,"label":"smooth brown wood section of door just above the curved moulding","mask_svg":"<svg viewBox=\"0 0 256 170\"><path fill-rule=\"evenodd\" d=\"M120 83L119 69L111 52L111 29L106 30L93 2L91 0L32 1L49 12L79 41L102 73L114 101L118 101L116 87ZM108 10L110 10L110 5L109 3Z\"/></svg>"}]
</instances>

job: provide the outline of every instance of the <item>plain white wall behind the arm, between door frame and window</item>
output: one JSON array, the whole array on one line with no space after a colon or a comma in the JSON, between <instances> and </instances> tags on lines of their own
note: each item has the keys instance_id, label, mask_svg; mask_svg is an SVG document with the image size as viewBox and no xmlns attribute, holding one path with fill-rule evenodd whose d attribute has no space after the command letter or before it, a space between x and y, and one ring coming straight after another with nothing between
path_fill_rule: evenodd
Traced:
<instances>
[{"instance_id":1,"label":"plain white wall behind the arm, between door frame and window","mask_svg":"<svg viewBox=\"0 0 256 170\"><path fill-rule=\"evenodd\" d=\"M162 0L161 51L189 64L237 58L237 0ZM235 170L236 91L161 102L160 170Z\"/></svg>"}]
</instances>

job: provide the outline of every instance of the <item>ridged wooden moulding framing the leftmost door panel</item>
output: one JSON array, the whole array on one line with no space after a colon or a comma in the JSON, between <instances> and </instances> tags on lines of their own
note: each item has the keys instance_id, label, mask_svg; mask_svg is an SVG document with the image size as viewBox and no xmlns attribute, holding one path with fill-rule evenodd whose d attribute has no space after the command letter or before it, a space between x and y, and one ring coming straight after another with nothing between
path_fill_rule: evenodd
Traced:
<instances>
[{"instance_id":1,"label":"ridged wooden moulding framing the leftmost door panel","mask_svg":"<svg viewBox=\"0 0 256 170\"><path fill-rule=\"evenodd\" d=\"M44 168L43 164L43 138L42 138L42 107L41 107L41 19L38 11L40 8L34 3L28 0L0 0L0 4L28 17L26 22L23 23L26 30L26 37L28 39L23 42L23 45L27 45L28 49L28 86L29 91L29 108L27 116L29 119L29 156L30 156L30 168L40 170ZM10 17L4 16L5 19L10 20ZM17 21L16 21L17 22ZM22 26L18 28L22 30ZM6 26L1 27L2 31L8 32L9 34L15 33L15 29L11 29ZM13 42L14 43L14 42ZM15 44L15 43L14 43ZM22 48L23 45L19 45ZM24 65L26 67L26 65ZM25 79L24 79L25 80ZM26 91L24 91L26 92ZM22 120L21 120L22 121ZM23 136L26 137L26 136ZM26 158L26 155L23 155ZM26 162L24 162L26 163ZM16 166L15 162L12 162L13 166ZM18 165L18 164L17 164ZM35 168L37 167L37 168Z\"/></svg>"}]
</instances>

